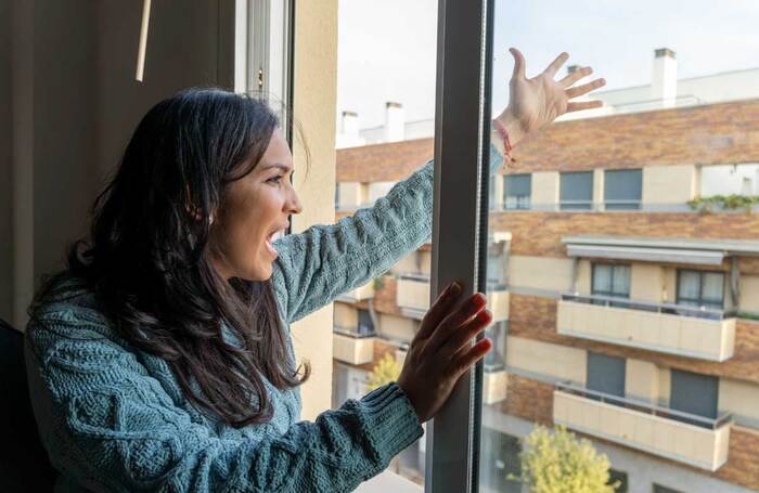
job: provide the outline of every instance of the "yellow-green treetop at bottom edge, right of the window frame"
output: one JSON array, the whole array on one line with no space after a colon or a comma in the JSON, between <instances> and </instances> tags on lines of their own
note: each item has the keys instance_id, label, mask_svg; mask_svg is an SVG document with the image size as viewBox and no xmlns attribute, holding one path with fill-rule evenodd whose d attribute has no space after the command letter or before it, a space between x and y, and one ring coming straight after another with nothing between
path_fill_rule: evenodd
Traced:
<instances>
[{"instance_id":1,"label":"yellow-green treetop at bottom edge, right of the window frame","mask_svg":"<svg viewBox=\"0 0 759 493\"><path fill-rule=\"evenodd\" d=\"M563 426L554 431L537 427L525 439L522 481L533 493L613 493L609 462L587 439L578 439Z\"/></svg>"}]
</instances>

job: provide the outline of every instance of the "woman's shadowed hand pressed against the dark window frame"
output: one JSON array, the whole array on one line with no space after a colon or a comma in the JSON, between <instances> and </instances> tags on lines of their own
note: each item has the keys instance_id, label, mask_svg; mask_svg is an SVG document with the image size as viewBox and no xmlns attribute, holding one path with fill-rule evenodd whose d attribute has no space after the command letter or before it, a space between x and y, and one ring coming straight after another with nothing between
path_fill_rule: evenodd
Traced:
<instances>
[{"instance_id":1,"label":"woman's shadowed hand pressed against the dark window frame","mask_svg":"<svg viewBox=\"0 0 759 493\"><path fill-rule=\"evenodd\" d=\"M424 315L398 377L420 423L440 411L459 377L492 347L490 339L469 346L492 320L485 296L476 294L454 309L460 296L461 286L451 284Z\"/></svg>"}]
</instances>

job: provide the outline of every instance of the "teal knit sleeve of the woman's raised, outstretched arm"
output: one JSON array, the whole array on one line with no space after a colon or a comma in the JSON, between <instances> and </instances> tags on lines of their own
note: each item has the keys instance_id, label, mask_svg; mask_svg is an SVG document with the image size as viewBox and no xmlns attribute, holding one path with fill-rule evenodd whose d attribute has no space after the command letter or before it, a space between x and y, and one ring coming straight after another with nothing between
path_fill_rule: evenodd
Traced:
<instances>
[{"instance_id":1,"label":"teal knit sleeve of the woman's raised, outstretched arm","mask_svg":"<svg viewBox=\"0 0 759 493\"><path fill-rule=\"evenodd\" d=\"M490 146L490 169L503 157ZM373 207L336 224L312 226L275 243L272 282L286 322L382 275L433 233L433 161L397 183Z\"/></svg>"}]
</instances>

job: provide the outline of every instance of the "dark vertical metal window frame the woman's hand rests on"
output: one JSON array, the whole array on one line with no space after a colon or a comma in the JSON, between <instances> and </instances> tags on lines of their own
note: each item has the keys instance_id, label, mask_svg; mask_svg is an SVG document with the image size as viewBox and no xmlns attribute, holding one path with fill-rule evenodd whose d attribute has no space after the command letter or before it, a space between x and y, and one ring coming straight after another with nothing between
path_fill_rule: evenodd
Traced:
<instances>
[{"instance_id":1,"label":"dark vertical metal window frame the woman's hand rests on","mask_svg":"<svg viewBox=\"0 0 759 493\"><path fill-rule=\"evenodd\" d=\"M451 282L486 289L493 0L439 0L430 301ZM428 423L425 491L479 484L483 363Z\"/></svg>"}]
</instances>

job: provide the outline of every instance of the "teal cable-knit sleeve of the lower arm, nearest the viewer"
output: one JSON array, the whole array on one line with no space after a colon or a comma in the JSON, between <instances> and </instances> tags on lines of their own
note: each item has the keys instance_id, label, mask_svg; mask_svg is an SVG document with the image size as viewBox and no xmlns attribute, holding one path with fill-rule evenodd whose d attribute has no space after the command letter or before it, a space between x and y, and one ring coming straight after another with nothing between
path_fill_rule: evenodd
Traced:
<instances>
[{"instance_id":1,"label":"teal cable-knit sleeve of the lower arm, nearest the viewer","mask_svg":"<svg viewBox=\"0 0 759 493\"><path fill-rule=\"evenodd\" d=\"M75 313L56 317L26 340L35 415L53 466L93 491L347 492L422 436L389 384L281 436L222 439L133 352Z\"/></svg>"}]
</instances>

